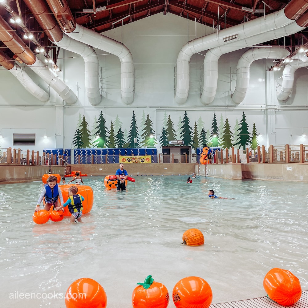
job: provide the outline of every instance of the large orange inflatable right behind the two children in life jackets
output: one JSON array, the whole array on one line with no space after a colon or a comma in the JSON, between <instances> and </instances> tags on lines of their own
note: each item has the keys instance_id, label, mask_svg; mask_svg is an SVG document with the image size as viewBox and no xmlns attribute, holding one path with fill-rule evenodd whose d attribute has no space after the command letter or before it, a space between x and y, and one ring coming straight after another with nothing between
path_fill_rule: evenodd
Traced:
<instances>
[{"instance_id":1,"label":"large orange inflatable right behind the two children in life jackets","mask_svg":"<svg viewBox=\"0 0 308 308\"><path fill-rule=\"evenodd\" d=\"M82 201L83 210L82 213L89 213L93 206L93 190L90 186L87 185L75 185L75 184L67 184L67 185L59 185L64 202L68 199L68 188L71 186L76 186L78 188L78 193L84 197L84 201ZM45 199L43 200L45 205ZM58 199L58 204L56 206L60 206L60 201ZM51 207L50 212L53 210ZM62 211L61 211L62 212ZM62 212L63 213L63 212ZM64 216L71 216L71 213L68 211L68 206L64 208Z\"/></svg>"}]
</instances>

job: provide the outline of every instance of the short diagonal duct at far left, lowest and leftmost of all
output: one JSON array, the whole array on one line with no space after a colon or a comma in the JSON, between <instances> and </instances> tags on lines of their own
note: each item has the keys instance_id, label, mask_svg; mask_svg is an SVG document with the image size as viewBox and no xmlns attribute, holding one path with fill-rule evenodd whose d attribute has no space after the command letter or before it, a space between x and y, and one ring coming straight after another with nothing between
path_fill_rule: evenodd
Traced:
<instances>
[{"instance_id":1,"label":"short diagonal duct at far left, lowest and leftmost of all","mask_svg":"<svg viewBox=\"0 0 308 308\"><path fill-rule=\"evenodd\" d=\"M12 73L30 94L42 102L47 102L49 100L48 93L41 89L21 67L16 65L15 61L11 60L3 51L0 51L0 64Z\"/></svg>"}]
</instances>

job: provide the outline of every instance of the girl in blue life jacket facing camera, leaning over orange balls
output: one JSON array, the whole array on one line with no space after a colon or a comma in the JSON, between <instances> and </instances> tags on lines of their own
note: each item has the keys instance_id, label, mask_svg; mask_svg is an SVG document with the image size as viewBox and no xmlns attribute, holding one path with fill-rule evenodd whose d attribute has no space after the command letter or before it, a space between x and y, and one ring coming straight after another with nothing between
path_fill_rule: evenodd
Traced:
<instances>
[{"instance_id":1,"label":"girl in blue life jacket facing camera, leaning over orange balls","mask_svg":"<svg viewBox=\"0 0 308 308\"><path fill-rule=\"evenodd\" d=\"M44 189L39 197L35 212L40 210L40 204L45 197L44 210L49 211L52 206L55 206L60 199L60 203L63 205L63 196L61 189L57 183L57 177L52 175L47 179L47 184L44 185Z\"/></svg>"}]
</instances>

